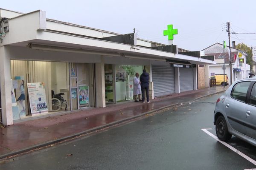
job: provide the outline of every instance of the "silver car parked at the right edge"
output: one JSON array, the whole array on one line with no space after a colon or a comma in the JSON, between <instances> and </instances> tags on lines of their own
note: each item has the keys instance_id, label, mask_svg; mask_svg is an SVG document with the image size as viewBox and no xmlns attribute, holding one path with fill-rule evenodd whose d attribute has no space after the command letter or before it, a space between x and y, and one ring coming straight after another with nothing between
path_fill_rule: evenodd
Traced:
<instances>
[{"instance_id":1,"label":"silver car parked at the right edge","mask_svg":"<svg viewBox=\"0 0 256 170\"><path fill-rule=\"evenodd\" d=\"M221 141L234 135L256 146L256 78L234 82L217 100L214 125Z\"/></svg>"}]
</instances>

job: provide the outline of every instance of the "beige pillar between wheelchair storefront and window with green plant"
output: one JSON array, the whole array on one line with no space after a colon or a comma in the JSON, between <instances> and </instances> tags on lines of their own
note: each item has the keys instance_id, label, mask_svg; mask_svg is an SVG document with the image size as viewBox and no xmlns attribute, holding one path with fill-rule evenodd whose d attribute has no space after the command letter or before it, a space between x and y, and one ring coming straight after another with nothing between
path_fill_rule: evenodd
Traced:
<instances>
[{"instance_id":1,"label":"beige pillar between wheelchair storefront and window with green plant","mask_svg":"<svg viewBox=\"0 0 256 170\"><path fill-rule=\"evenodd\" d=\"M103 58L100 63L96 63L96 107L105 108L105 71Z\"/></svg>"}]
</instances>

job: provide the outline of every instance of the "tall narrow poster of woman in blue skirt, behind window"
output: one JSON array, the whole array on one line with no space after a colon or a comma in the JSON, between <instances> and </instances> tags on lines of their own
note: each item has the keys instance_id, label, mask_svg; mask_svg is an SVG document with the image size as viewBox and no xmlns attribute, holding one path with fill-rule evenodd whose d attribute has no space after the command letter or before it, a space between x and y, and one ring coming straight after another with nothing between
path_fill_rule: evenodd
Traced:
<instances>
[{"instance_id":1,"label":"tall narrow poster of woman in blue skirt, behind window","mask_svg":"<svg viewBox=\"0 0 256 170\"><path fill-rule=\"evenodd\" d=\"M17 97L17 105L20 110L20 117L26 116L26 104L25 104L25 85L24 76L15 77L15 91Z\"/></svg>"}]
</instances>

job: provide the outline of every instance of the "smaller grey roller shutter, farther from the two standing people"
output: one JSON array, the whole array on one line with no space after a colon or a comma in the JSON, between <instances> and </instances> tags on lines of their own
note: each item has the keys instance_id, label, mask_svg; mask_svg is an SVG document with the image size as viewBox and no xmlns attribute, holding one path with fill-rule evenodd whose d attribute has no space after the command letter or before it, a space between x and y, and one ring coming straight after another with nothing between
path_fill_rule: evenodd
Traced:
<instances>
[{"instance_id":1,"label":"smaller grey roller shutter, farther from the two standing people","mask_svg":"<svg viewBox=\"0 0 256 170\"><path fill-rule=\"evenodd\" d=\"M193 68L180 68L180 92L194 90Z\"/></svg>"}]
</instances>

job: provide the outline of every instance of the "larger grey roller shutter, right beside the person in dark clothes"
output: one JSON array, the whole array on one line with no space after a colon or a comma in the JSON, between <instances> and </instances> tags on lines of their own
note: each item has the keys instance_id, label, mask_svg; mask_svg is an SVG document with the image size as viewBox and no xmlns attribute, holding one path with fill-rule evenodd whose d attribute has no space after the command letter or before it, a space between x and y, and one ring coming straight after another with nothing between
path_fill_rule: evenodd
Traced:
<instances>
[{"instance_id":1,"label":"larger grey roller shutter, right beside the person in dark clothes","mask_svg":"<svg viewBox=\"0 0 256 170\"><path fill-rule=\"evenodd\" d=\"M174 68L166 65L152 65L154 96L175 93Z\"/></svg>"}]
</instances>

